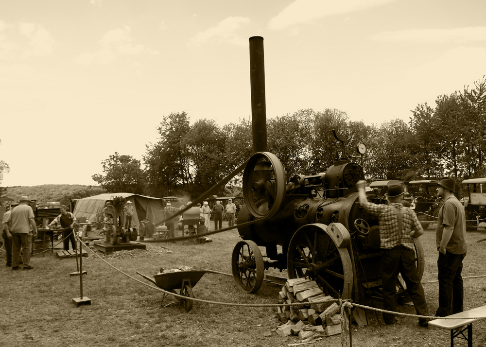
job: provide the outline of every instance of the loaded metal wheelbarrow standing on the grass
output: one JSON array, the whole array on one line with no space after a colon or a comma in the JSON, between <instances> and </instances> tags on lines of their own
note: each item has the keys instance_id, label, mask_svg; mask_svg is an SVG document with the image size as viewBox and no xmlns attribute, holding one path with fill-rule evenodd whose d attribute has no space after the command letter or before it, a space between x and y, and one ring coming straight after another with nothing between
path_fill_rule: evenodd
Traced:
<instances>
[{"instance_id":1,"label":"loaded metal wheelbarrow standing on the grass","mask_svg":"<svg viewBox=\"0 0 486 347\"><path fill-rule=\"evenodd\" d=\"M171 302L164 307L179 303L180 306L184 307L186 312L189 312L192 309L192 300L189 298L194 297L194 294L192 294L192 287L195 286L197 282L199 282L199 280L204 276L206 272L207 271L177 271L169 272L167 274L155 275L154 278L145 276L143 274L140 274L139 272L137 272L137 274L151 281L157 287L162 288L163 290L182 296L187 296L188 299L181 298L179 301ZM176 289L179 289L179 293L175 291ZM164 299L167 295L169 294L164 293L164 296L162 297L162 302L164 302Z\"/></svg>"}]
</instances>

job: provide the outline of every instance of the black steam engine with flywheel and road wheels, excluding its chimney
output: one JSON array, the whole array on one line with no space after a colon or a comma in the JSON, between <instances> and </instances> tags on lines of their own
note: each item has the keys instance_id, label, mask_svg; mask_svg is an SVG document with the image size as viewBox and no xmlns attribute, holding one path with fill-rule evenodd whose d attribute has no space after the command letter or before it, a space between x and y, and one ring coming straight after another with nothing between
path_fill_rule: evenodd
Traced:
<instances>
[{"instance_id":1,"label":"black steam engine with flywheel and road wheels, excluding its chimney","mask_svg":"<svg viewBox=\"0 0 486 347\"><path fill-rule=\"evenodd\" d=\"M238 216L238 225L246 224L238 227L243 241L232 255L237 285L255 293L264 270L274 267L287 269L289 278L315 280L326 295L355 301L375 295L381 287L380 230L378 219L359 204L356 182L361 179L363 167L341 158L325 174L295 175L286 184L276 156L252 156L243 172L246 204ZM424 256L414 241L421 278ZM265 247L267 260L259 246Z\"/></svg>"}]
</instances>

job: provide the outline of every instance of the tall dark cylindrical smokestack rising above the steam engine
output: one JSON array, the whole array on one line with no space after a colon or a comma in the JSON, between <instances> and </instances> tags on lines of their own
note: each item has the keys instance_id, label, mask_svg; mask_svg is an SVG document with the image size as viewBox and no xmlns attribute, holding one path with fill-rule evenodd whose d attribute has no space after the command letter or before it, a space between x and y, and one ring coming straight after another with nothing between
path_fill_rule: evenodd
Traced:
<instances>
[{"instance_id":1,"label":"tall dark cylindrical smokestack rising above the steam engine","mask_svg":"<svg viewBox=\"0 0 486 347\"><path fill-rule=\"evenodd\" d=\"M265 60L263 37L252 36L250 41L251 128L253 153L267 151L267 115L265 104Z\"/></svg>"}]
</instances>

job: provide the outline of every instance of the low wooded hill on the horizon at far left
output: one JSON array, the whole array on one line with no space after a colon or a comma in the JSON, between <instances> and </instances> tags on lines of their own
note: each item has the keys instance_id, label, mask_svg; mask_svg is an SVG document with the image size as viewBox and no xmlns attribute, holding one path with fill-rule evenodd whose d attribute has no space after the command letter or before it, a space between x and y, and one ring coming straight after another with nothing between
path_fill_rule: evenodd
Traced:
<instances>
[{"instance_id":1,"label":"low wooded hill on the horizon at far left","mask_svg":"<svg viewBox=\"0 0 486 347\"><path fill-rule=\"evenodd\" d=\"M23 195L37 202L57 201L62 204L69 203L70 199L82 199L104 193L99 186L83 186L79 184L44 184L31 187L6 187L3 198L12 198L17 201Z\"/></svg>"}]
</instances>

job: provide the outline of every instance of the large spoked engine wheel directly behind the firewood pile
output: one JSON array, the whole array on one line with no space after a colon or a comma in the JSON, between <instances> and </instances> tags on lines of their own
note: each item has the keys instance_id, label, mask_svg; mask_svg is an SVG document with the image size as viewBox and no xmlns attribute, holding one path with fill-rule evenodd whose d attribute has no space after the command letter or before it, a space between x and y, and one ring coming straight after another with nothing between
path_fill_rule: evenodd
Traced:
<instances>
[{"instance_id":1,"label":"large spoked engine wheel directly behind the firewood pile","mask_svg":"<svg viewBox=\"0 0 486 347\"><path fill-rule=\"evenodd\" d=\"M324 224L299 228L287 253L289 278L315 280L326 295L351 298L353 267L346 247L338 248ZM348 284L349 282L349 284Z\"/></svg>"}]
</instances>

